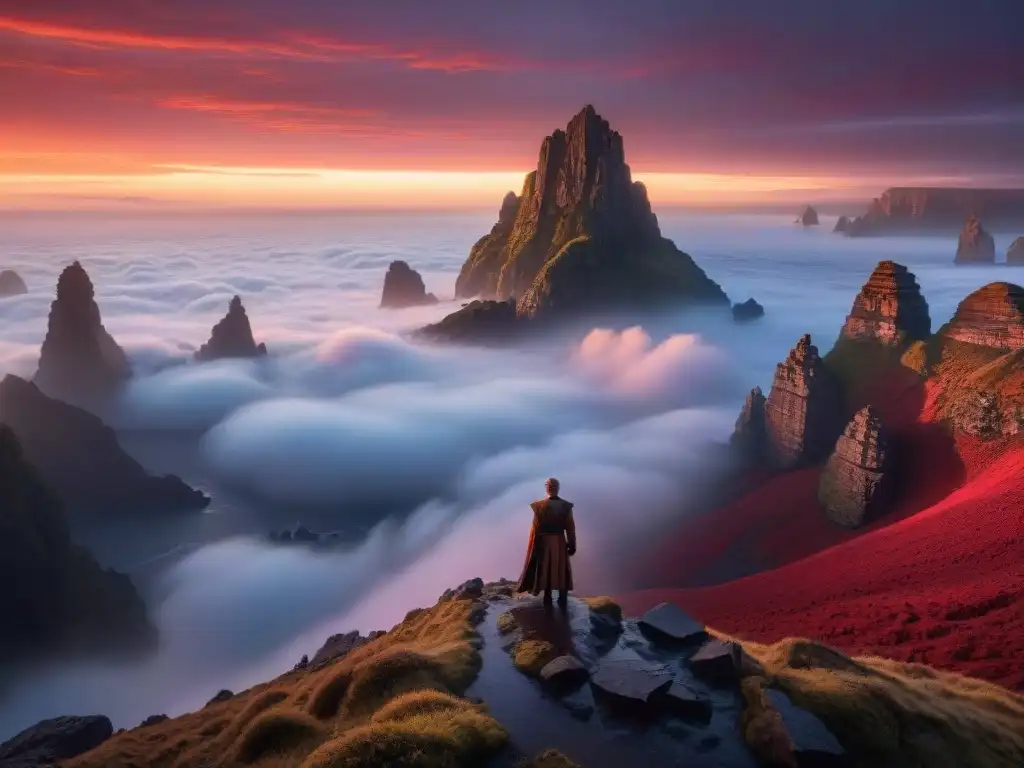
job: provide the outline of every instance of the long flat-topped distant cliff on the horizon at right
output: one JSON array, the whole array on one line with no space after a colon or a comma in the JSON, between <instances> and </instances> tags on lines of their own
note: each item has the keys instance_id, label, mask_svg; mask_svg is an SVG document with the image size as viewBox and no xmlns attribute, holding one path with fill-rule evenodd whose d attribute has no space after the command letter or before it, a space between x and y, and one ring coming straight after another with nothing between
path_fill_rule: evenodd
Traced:
<instances>
[{"instance_id":1,"label":"long flat-topped distant cliff on the horizon at right","mask_svg":"<svg viewBox=\"0 0 1024 768\"><path fill-rule=\"evenodd\" d=\"M956 231L972 214L989 226L1024 222L1024 189L893 187L846 229L850 237Z\"/></svg>"}]
</instances>

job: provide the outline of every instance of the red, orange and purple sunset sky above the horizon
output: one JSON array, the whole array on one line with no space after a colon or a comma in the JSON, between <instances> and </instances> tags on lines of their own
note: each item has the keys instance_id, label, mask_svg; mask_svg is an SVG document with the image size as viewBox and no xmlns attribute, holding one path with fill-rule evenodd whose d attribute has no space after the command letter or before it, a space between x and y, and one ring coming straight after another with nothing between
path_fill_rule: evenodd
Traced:
<instances>
[{"instance_id":1,"label":"red, orange and purple sunset sky above the horizon","mask_svg":"<svg viewBox=\"0 0 1024 768\"><path fill-rule=\"evenodd\" d=\"M0 207L495 207L584 103L655 203L1024 185L1024 0L0 0Z\"/></svg>"}]
</instances>

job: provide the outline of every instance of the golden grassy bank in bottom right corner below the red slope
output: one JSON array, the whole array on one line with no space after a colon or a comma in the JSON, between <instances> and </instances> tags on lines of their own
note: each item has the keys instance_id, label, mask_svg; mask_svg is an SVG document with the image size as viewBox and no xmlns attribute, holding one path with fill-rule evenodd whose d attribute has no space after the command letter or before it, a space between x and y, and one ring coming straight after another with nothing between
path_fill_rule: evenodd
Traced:
<instances>
[{"instance_id":1,"label":"golden grassy bank in bottom right corner below the red slope","mask_svg":"<svg viewBox=\"0 0 1024 768\"><path fill-rule=\"evenodd\" d=\"M859 766L1024 765L1024 696L1006 688L923 665L850 658L808 640L743 646Z\"/></svg>"}]
</instances>

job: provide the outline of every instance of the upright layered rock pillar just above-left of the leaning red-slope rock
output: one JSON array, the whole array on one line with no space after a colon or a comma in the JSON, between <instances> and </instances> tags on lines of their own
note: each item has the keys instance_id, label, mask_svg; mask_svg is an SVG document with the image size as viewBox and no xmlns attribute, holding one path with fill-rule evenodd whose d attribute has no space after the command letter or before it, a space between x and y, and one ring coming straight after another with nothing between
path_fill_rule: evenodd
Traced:
<instances>
[{"instance_id":1,"label":"upright layered rock pillar just above-left of the leaning red-slope rock","mask_svg":"<svg viewBox=\"0 0 1024 768\"><path fill-rule=\"evenodd\" d=\"M828 456L842 429L842 403L839 384L803 336L775 369L765 403L771 462L791 469Z\"/></svg>"}]
</instances>

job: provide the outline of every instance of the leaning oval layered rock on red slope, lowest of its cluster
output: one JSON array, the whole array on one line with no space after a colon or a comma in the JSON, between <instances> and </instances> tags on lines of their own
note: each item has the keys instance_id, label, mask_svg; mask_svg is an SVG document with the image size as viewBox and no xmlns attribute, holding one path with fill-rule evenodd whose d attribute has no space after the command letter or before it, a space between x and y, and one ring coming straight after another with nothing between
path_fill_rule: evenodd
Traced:
<instances>
[{"instance_id":1,"label":"leaning oval layered rock on red slope, lowest of its cluster","mask_svg":"<svg viewBox=\"0 0 1024 768\"><path fill-rule=\"evenodd\" d=\"M877 519L892 500L894 477L882 419L865 406L836 442L818 484L818 501L834 522L855 528Z\"/></svg>"}]
</instances>

